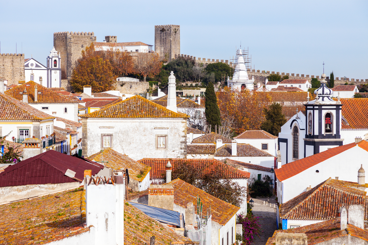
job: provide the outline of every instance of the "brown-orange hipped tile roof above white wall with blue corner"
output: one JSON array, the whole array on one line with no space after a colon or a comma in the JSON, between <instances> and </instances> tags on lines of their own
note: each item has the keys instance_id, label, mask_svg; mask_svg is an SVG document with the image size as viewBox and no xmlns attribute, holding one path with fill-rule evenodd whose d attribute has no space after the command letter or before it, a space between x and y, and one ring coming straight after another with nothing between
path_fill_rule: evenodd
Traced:
<instances>
[{"instance_id":1,"label":"brown-orange hipped tile roof above white wall with blue corner","mask_svg":"<svg viewBox=\"0 0 368 245\"><path fill-rule=\"evenodd\" d=\"M309 191L280 205L282 219L335 219L341 206L362 204L364 220L368 219L368 199L365 188L368 185L334 180L329 178ZM362 190L358 190L360 188Z\"/></svg>"}]
</instances>

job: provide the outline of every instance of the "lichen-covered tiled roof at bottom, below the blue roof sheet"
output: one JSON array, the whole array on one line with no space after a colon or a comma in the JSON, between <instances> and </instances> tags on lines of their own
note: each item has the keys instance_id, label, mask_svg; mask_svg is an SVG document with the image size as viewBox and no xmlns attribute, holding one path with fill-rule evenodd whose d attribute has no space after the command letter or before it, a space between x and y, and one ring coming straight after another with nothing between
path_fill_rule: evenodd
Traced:
<instances>
[{"instance_id":1,"label":"lichen-covered tiled roof at bottom, below the blue roof sheet","mask_svg":"<svg viewBox=\"0 0 368 245\"><path fill-rule=\"evenodd\" d=\"M124 244L144 245L150 244L151 237L155 236L155 244L185 244L190 241L165 225L152 219L141 210L125 202L124 205Z\"/></svg>"}]
</instances>

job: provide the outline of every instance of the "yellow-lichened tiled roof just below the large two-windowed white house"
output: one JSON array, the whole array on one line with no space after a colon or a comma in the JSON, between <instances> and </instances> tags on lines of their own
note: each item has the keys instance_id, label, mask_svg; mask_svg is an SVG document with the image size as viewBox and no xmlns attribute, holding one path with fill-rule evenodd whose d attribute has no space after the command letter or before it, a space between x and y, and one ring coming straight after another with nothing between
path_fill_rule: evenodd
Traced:
<instances>
[{"instance_id":1,"label":"yellow-lichened tiled roof just below the large two-windowed white house","mask_svg":"<svg viewBox=\"0 0 368 245\"><path fill-rule=\"evenodd\" d=\"M99 151L89 156L87 159L100 162L100 164L105 165L105 167L112 167L114 170L128 169L129 177L140 182L143 181L148 172L151 170L151 167L144 165L143 163L134 161L127 155L120 154L111 148Z\"/></svg>"}]
</instances>

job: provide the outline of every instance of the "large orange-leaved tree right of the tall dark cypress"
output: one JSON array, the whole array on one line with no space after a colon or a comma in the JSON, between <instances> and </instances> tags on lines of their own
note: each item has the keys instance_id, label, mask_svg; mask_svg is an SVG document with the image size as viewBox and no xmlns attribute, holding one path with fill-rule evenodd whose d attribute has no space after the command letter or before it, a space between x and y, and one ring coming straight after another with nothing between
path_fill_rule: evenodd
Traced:
<instances>
[{"instance_id":1,"label":"large orange-leaved tree right of the tall dark cypress","mask_svg":"<svg viewBox=\"0 0 368 245\"><path fill-rule=\"evenodd\" d=\"M268 108L271 102L267 92L230 90L229 87L217 92L221 124L231 127L235 134L259 130L265 120L264 108Z\"/></svg>"}]
</instances>

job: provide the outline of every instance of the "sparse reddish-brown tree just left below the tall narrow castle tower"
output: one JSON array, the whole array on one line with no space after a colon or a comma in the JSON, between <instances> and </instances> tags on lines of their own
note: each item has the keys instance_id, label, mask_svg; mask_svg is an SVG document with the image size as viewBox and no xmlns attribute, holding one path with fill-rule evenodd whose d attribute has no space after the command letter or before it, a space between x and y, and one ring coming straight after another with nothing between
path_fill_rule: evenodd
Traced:
<instances>
[{"instance_id":1,"label":"sparse reddish-brown tree just left below the tall narrow castle tower","mask_svg":"<svg viewBox=\"0 0 368 245\"><path fill-rule=\"evenodd\" d=\"M160 73L162 61L158 53L138 53L134 57L134 71L143 76L143 82L146 77L153 77Z\"/></svg>"}]
</instances>

